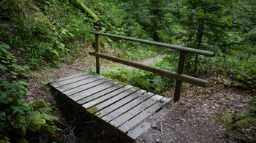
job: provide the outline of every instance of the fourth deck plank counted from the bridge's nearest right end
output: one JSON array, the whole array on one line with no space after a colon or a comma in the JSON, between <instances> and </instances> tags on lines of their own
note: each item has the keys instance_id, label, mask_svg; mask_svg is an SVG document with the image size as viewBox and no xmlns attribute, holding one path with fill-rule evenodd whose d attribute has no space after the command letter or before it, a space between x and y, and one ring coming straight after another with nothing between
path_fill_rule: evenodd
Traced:
<instances>
[{"instance_id":1,"label":"fourth deck plank counted from the bridge's nearest right end","mask_svg":"<svg viewBox=\"0 0 256 143\"><path fill-rule=\"evenodd\" d=\"M124 112L127 112L129 109L132 109L132 107L135 107L136 105L142 103L143 101L145 101L147 98L150 98L151 96L153 96L153 93L146 93L143 96L140 96L138 98L135 98L135 100L133 101L128 101L126 98L123 98L122 100L126 101L124 103L128 103L125 104L123 107L118 106L119 108L112 108L112 111L114 109L116 109L115 111L111 112L108 115L105 115L104 117L102 117L103 120L105 120L106 122L109 122L110 120L113 120L114 118L118 117L119 115L123 114ZM121 104L123 105L123 104ZM110 108L111 111L111 108ZM102 114L102 112L100 112L100 115L104 115L104 113Z\"/></svg>"}]
</instances>

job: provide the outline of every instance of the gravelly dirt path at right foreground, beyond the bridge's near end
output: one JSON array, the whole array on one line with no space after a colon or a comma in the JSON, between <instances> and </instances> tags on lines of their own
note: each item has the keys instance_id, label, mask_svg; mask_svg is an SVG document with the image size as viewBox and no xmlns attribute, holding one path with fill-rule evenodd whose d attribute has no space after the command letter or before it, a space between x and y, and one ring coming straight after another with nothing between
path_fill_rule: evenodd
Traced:
<instances>
[{"instance_id":1,"label":"gravelly dirt path at right foreground, beyond the bridge's near end","mask_svg":"<svg viewBox=\"0 0 256 143\"><path fill-rule=\"evenodd\" d=\"M229 133L225 125L217 122L217 115L246 113L246 101L256 94L218 83L213 76L207 79L211 82L206 90L195 85L183 88L181 100L168 104L169 112L157 128L151 128L136 142L250 142L255 138L255 125ZM173 95L173 89L165 94Z\"/></svg>"}]
</instances>

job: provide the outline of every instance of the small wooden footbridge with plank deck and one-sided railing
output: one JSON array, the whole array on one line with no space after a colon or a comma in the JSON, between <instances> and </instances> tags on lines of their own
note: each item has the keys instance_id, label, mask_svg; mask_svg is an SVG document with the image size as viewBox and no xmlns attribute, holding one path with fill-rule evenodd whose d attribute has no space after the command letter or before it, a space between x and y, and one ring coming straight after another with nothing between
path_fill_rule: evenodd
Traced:
<instances>
[{"instance_id":1,"label":"small wooden footbridge with plank deck and one-sided railing","mask_svg":"<svg viewBox=\"0 0 256 143\"><path fill-rule=\"evenodd\" d=\"M110 61L123 63L138 69L176 79L174 101L178 101L180 98L182 82L189 82L194 85L206 87L206 80L200 80L182 74L186 55L187 53L196 53L214 56L214 53L188 47L151 42L143 39L135 39L127 36L94 31L91 33L95 34L96 52L91 52L90 54L96 56L97 75L89 73L78 74L55 80L50 83L50 85L55 90L58 90L64 98L71 101L73 105L76 105L76 107L79 107L90 115L94 115L94 117L106 123L115 131L126 135L129 139L137 139L138 136L147 131L148 128L151 128L152 124L157 123L158 120L167 113L165 104L170 102L170 99L155 93L148 93L146 90L139 90L138 88L132 87L132 85L120 85L118 82L114 82L111 79L99 75L99 58L105 58ZM99 35L180 50L178 73L99 53Z\"/></svg>"}]
</instances>

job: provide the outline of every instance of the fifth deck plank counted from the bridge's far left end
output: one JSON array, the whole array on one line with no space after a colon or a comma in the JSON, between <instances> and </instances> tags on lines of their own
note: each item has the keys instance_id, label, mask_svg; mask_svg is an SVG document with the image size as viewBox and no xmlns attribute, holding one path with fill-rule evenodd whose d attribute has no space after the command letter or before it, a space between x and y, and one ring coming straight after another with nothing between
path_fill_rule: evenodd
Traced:
<instances>
[{"instance_id":1,"label":"fifth deck plank counted from the bridge's far left end","mask_svg":"<svg viewBox=\"0 0 256 143\"><path fill-rule=\"evenodd\" d=\"M88 96L93 95L94 93L98 93L102 90L105 90L105 89L110 88L110 87L112 87L114 85L117 85L117 84L118 84L118 82L111 82L111 81L110 82L105 82L101 85L94 86L93 88L89 88L89 89L83 90L79 93L75 93L72 96L69 96L69 98L72 98L74 101L78 101L81 98L86 98Z\"/></svg>"}]
</instances>

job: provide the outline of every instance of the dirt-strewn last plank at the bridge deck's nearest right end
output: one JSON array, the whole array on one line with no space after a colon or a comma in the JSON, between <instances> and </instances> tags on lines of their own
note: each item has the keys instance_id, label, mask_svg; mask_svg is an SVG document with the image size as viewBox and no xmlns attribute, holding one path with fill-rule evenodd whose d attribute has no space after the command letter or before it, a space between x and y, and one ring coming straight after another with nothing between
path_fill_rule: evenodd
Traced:
<instances>
[{"instance_id":1,"label":"dirt-strewn last plank at the bridge deck's nearest right end","mask_svg":"<svg viewBox=\"0 0 256 143\"><path fill-rule=\"evenodd\" d=\"M139 125L133 128L131 131L128 131L127 136L132 139L137 139L141 134L151 128L152 123L157 123L159 120L162 119L168 112L168 109L164 107L159 112L157 112L152 117L148 117L146 121L139 123Z\"/></svg>"}]
</instances>

